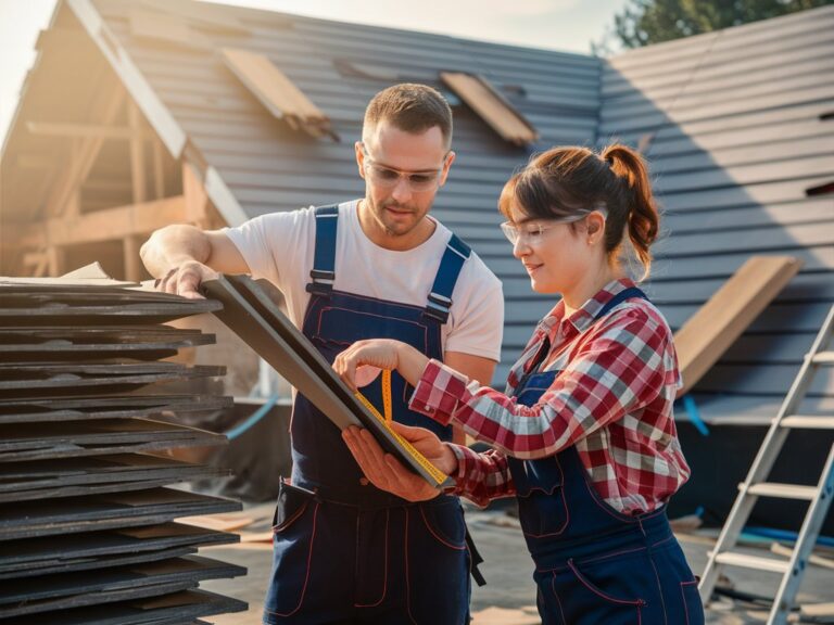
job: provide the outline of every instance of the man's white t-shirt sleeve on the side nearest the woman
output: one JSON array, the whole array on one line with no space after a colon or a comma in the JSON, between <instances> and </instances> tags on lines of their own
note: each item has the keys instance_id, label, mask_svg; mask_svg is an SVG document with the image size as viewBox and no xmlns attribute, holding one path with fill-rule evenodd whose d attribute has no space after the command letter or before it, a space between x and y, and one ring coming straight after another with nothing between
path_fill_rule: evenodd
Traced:
<instances>
[{"instance_id":1,"label":"man's white t-shirt sleeve on the side nearest the woman","mask_svg":"<svg viewBox=\"0 0 834 625\"><path fill-rule=\"evenodd\" d=\"M455 285L454 323L445 350L501 360L504 333L504 291L501 280L477 256L467 262ZM455 305L459 305L459 309Z\"/></svg>"}]
</instances>

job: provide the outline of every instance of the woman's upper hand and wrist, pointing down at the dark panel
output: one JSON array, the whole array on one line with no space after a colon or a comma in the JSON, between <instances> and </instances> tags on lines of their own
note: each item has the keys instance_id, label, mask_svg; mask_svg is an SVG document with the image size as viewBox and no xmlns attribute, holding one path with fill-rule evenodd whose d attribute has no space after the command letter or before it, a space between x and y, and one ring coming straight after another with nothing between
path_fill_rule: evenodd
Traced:
<instances>
[{"instance_id":1,"label":"woman's upper hand and wrist, pointing down at the dark panel","mask_svg":"<svg viewBox=\"0 0 834 625\"><path fill-rule=\"evenodd\" d=\"M356 368L369 365L378 369L396 370L412 386L417 384L429 359L417 349L392 339L357 341L336 357L333 369L354 392Z\"/></svg>"}]
</instances>

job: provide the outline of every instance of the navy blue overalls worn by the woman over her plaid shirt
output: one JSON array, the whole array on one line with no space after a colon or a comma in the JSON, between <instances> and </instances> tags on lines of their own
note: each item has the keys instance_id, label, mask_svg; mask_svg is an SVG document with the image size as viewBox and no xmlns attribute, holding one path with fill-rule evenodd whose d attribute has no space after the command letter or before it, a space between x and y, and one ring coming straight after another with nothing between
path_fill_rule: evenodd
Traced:
<instances>
[{"instance_id":1,"label":"navy blue overalls worn by the woman over her plaid shirt","mask_svg":"<svg viewBox=\"0 0 834 625\"><path fill-rule=\"evenodd\" d=\"M632 297L648 299L626 289L595 320ZM516 391L523 406L534 406L558 374L536 371L547 352L545 343ZM665 508L637 516L615 510L594 489L576 446L508 460L544 625L704 623L697 582Z\"/></svg>"}]
</instances>

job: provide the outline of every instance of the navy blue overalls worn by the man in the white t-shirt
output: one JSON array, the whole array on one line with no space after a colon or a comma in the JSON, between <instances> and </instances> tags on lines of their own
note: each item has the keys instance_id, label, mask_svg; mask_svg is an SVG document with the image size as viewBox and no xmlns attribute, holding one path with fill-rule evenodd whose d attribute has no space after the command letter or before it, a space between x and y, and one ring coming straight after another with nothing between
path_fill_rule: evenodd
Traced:
<instances>
[{"instance_id":1,"label":"navy blue overalls worn by the man in the white t-shirt","mask_svg":"<svg viewBox=\"0 0 834 625\"><path fill-rule=\"evenodd\" d=\"M451 239L426 307L336 291L338 215L337 206L316 209L305 336L330 362L362 339L396 339L442 359L441 327L469 248ZM382 407L381 375L362 392ZM450 441L451 428L408 410L412 392L392 375L393 418ZM410 503L369 485L339 429L302 395L290 431L292 480L282 484L276 507L265 622L467 623L476 557L459 500L440 496Z\"/></svg>"}]
</instances>

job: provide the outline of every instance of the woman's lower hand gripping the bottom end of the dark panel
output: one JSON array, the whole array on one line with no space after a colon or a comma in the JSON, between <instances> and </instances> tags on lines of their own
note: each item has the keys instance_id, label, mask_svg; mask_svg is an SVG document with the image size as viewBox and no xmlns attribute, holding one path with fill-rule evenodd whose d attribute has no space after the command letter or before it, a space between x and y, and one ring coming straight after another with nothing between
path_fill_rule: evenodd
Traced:
<instances>
[{"instance_id":1,"label":"woman's lower hand gripping the bottom end of the dark panel","mask_svg":"<svg viewBox=\"0 0 834 625\"><path fill-rule=\"evenodd\" d=\"M450 475L457 471L457 457L433 432L422 428L409 428L396 422L391 423L391 429L414 445L429 462L443 473ZM348 444L365 476L377 488L393 493L408 501L425 501L440 495L440 490L406 469L391 454L383 451L367 430L356 426L346 428L342 431L342 438Z\"/></svg>"}]
</instances>

